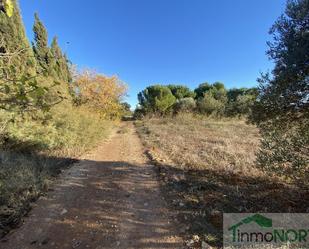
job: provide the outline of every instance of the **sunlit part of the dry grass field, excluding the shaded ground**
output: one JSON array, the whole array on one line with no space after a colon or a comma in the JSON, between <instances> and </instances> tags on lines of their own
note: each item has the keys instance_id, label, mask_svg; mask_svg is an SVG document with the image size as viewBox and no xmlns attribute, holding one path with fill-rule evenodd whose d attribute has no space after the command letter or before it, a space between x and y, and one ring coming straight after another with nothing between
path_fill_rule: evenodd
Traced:
<instances>
[{"instance_id":1,"label":"sunlit part of the dry grass field, excluding the shaded ground","mask_svg":"<svg viewBox=\"0 0 309 249\"><path fill-rule=\"evenodd\" d=\"M254 167L259 133L245 120L214 120L183 114L145 119L141 129L146 146L161 157L168 155L178 167L261 174Z\"/></svg>"}]
</instances>

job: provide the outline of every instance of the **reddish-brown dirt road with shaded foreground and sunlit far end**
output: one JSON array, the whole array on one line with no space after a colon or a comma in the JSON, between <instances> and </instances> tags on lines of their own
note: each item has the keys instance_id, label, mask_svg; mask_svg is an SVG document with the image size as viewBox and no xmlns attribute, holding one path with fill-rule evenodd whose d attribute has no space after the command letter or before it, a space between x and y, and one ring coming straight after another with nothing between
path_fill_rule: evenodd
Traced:
<instances>
[{"instance_id":1,"label":"reddish-brown dirt road with shaded foreground and sunlit far end","mask_svg":"<svg viewBox=\"0 0 309 249\"><path fill-rule=\"evenodd\" d=\"M183 248L170 217L127 123L67 170L0 248Z\"/></svg>"}]
</instances>

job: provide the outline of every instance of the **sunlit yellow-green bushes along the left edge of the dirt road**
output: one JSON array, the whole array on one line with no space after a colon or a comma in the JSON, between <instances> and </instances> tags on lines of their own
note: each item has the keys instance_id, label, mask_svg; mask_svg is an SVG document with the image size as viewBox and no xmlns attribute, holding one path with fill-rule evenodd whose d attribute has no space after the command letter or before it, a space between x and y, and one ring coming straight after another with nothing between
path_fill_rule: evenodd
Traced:
<instances>
[{"instance_id":1,"label":"sunlit yellow-green bushes along the left edge of the dirt road","mask_svg":"<svg viewBox=\"0 0 309 249\"><path fill-rule=\"evenodd\" d=\"M52 151L80 147L82 151L84 146L100 139L108 128L109 122L102 120L99 114L63 103L55 106L44 120L24 117L11 122L6 128L9 139L5 148L14 151Z\"/></svg>"}]
</instances>

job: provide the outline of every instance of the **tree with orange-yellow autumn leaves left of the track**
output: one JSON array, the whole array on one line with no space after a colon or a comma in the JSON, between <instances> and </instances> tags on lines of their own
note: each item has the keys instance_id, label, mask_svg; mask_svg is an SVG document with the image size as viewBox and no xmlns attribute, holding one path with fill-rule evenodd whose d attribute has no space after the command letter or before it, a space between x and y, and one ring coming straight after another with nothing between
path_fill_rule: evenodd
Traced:
<instances>
[{"instance_id":1,"label":"tree with orange-yellow autumn leaves left of the track","mask_svg":"<svg viewBox=\"0 0 309 249\"><path fill-rule=\"evenodd\" d=\"M107 77L93 71L84 71L75 77L75 87L82 104L100 112L105 118L121 115L121 99L127 86L117 76Z\"/></svg>"}]
</instances>

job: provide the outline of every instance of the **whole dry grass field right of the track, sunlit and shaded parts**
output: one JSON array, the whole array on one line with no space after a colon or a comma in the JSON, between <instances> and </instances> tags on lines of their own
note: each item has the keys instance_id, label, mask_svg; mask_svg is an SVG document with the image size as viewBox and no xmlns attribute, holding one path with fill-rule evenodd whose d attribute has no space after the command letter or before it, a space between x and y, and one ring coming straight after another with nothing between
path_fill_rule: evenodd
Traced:
<instances>
[{"instance_id":1,"label":"whole dry grass field right of the track, sunlit and shaded parts","mask_svg":"<svg viewBox=\"0 0 309 249\"><path fill-rule=\"evenodd\" d=\"M308 187L256 168L259 132L244 120L185 114L136 127L187 239L220 246L222 213L309 211Z\"/></svg>"}]
</instances>

